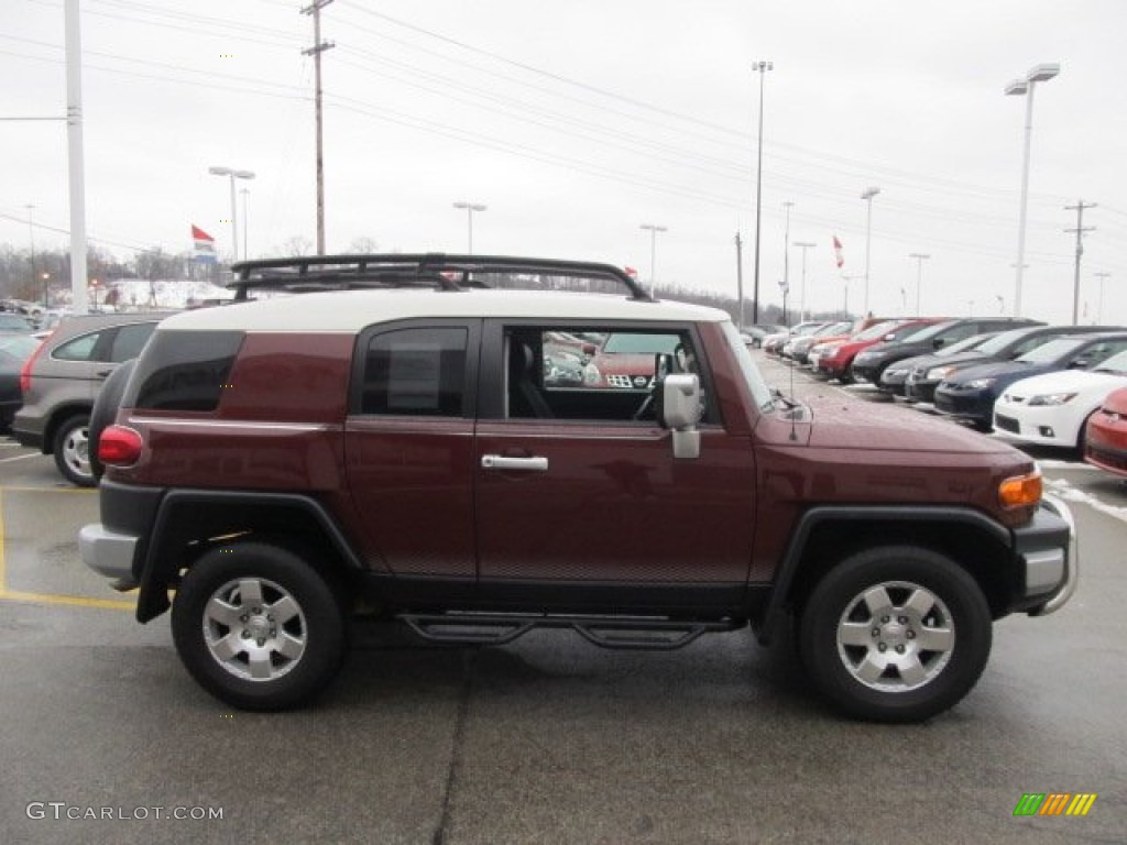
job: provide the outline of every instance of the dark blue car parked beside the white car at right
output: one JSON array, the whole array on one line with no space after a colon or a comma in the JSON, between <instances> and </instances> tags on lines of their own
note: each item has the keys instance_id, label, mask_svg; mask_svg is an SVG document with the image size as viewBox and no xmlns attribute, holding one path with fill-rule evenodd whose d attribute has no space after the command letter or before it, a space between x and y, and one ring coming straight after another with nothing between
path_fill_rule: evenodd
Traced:
<instances>
[{"instance_id":1,"label":"dark blue car parked beside the white car at right","mask_svg":"<svg viewBox=\"0 0 1127 845\"><path fill-rule=\"evenodd\" d=\"M1061 370L1088 370L1127 350L1127 330L1064 335L1014 361L962 367L935 389L935 410L990 432L994 401L1015 381Z\"/></svg>"}]
</instances>

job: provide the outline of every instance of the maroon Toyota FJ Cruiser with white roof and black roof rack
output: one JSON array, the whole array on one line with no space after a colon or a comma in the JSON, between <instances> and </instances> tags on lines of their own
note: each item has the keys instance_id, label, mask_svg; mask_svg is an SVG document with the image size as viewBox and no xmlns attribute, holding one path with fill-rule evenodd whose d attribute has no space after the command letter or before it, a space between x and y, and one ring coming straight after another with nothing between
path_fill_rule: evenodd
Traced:
<instances>
[{"instance_id":1,"label":"maroon Toyota FJ Cruiser with white roof and black roof rack","mask_svg":"<svg viewBox=\"0 0 1127 845\"><path fill-rule=\"evenodd\" d=\"M654 301L614 267L234 269L237 299L302 293L160 324L95 410L112 422L101 522L80 548L140 587L139 621L171 607L187 669L236 706L318 693L364 608L438 642L551 626L616 648L747 625L767 643L795 620L825 696L914 721L974 686L993 620L1075 587L1071 516L1028 456L772 393L728 314ZM582 278L627 293L506 290ZM629 383L548 383L560 333L651 363Z\"/></svg>"}]
</instances>

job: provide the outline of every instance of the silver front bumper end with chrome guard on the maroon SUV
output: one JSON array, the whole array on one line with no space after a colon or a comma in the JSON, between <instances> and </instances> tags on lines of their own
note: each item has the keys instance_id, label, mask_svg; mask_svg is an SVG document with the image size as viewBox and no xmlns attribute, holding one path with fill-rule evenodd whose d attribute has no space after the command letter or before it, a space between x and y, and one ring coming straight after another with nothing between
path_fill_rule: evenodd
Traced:
<instances>
[{"instance_id":1,"label":"silver front bumper end with chrome guard on the maroon SUV","mask_svg":"<svg viewBox=\"0 0 1127 845\"><path fill-rule=\"evenodd\" d=\"M1024 563L1022 610L1030 616L1056 613L1076 592L1080 540L1068 507L1054 496L1041 499L1033 519L1014 531Z\"/></svg>"}]
</instances>

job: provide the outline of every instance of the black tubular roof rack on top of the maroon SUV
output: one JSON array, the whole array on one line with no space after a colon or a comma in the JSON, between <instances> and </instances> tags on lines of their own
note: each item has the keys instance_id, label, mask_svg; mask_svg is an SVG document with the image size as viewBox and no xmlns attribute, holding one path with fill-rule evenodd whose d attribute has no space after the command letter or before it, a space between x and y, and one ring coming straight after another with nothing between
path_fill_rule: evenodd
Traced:
<instances>
[{"instance_id":1,"label":"black tubular roof rack on top of the maroon SUV","mask_svg":"<svg viewBox=\"0 0 1127 845\"><path fill-rule=\"evenodd\" d=\"M464 291L505 286L496 284L497 276L529 275L612 282L624 286L631 299L653 301L635 278L613 265L548 258L444 252L296 256L240 261L231 266L231 272L234 278L228 287L234 290L236 300L248 299L248 292L254 290L305 293L358 287L436 287ZM489 276L495 278L487 278Z\"/></svg>"}]
</instances>

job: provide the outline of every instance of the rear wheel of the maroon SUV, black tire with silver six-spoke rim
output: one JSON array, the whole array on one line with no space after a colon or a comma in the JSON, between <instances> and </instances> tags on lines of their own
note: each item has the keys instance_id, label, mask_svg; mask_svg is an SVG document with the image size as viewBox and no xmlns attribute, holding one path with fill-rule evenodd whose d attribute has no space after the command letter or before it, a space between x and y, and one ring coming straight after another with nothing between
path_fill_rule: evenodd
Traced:
<instances>
[{"instance_id":1,"label":"rear wheel of the maroon SUV, black tire with silver six-spoke rim","mask_svg":"<svg viewBox=\"0 0 1127 845\"><path fill-rule=\"evenodd\" d=\"M172 604L185 667L243 710L285 710L320 693L340 668L345 628L330 584L293 552L265 543L205 552Z\"/></svg>"}]
</instances>

